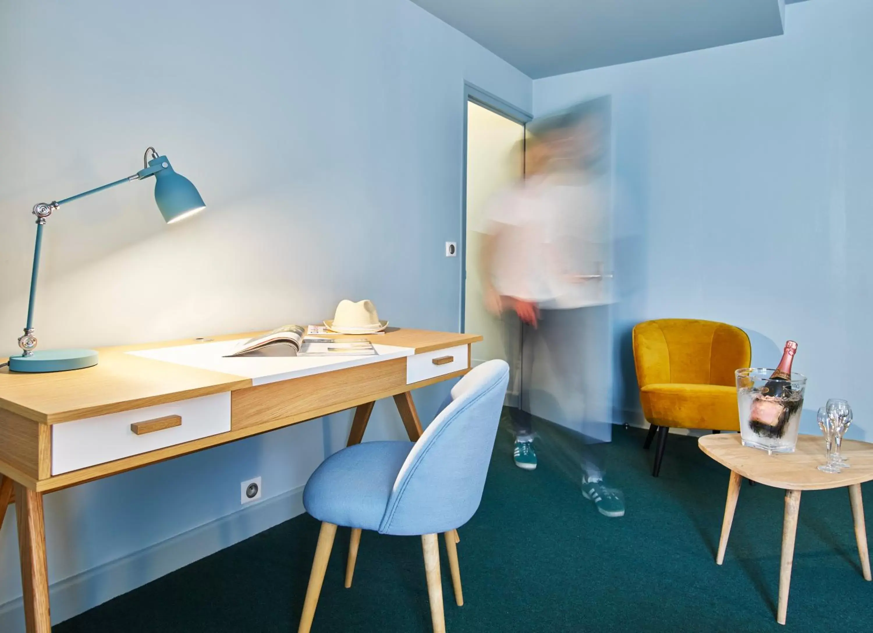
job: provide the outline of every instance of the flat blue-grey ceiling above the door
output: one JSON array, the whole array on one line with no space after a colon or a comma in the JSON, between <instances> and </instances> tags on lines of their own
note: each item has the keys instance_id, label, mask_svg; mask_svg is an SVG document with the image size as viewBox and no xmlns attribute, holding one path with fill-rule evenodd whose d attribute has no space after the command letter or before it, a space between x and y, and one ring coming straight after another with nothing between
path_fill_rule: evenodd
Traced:
<instances>
[{"instance_id":1,"label":"flat blue-grey ceiling above the door","mask_svg":"<svg viewBox=\"0 0 873 633\"><path fill-rule=\"evenodd\" d=\"M782 34L780 0L412 1L533 79Z\"/></svg>"}]
</instances>

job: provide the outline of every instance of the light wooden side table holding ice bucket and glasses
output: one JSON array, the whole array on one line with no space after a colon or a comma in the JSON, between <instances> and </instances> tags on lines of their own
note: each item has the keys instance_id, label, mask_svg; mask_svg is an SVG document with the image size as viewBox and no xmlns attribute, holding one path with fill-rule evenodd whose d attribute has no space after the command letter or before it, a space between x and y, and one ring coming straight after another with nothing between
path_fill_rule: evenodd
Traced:
<instances>
[{"instance_id":1,"label":"light wooden side table holding ice bucket and glasses","mask_svg":"<svg viewBox=\"0 0 873 633\"><path fill-rule=\"evenodd\" d=\"M779 574L779 606L776 622L785 623L788 610L788 587L791 584L791 565L794 560L794 535L797 532L797 512L801 507L801 491L849 488L849 501L855 518L855 538L864 580L869 581L870 554L867 550L867 529L864 526L864 508L861 484L873 479L873 444L843 440L842 455L849 458L850 468L839 473L818 470L825 463L824 439L821 436L801 435L793 453L768 455L766 451L743 446L739 434L709 435L698 440L700 450L719 464L731 469L727 486L725 519L718 540L716 563L725 560L727 537L731 533L733 511L742 478L785 490L785 518L782 524L782 558Z\"/></svg>"}]
</instances>

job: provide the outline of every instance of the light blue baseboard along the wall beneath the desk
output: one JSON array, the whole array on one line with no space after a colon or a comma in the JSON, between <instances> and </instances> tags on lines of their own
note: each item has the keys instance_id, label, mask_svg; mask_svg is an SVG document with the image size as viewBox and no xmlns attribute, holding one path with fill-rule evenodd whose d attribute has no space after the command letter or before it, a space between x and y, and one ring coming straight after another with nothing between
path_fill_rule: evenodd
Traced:
<instances>
[{"instance_id":1,"label":"light blue baseboard along the wall beneath the desk","mask_svg":"<svg viewBox=\"0 0 873 633\"><path fill-rule=\"evenodd\" d=\"M124 558L55 582L50 588L52 624L78 616L303 512L301 485ZM0 605L0 631L15 630L24 630L24 603L20 597Z\"/></svg>"}]
</instances>

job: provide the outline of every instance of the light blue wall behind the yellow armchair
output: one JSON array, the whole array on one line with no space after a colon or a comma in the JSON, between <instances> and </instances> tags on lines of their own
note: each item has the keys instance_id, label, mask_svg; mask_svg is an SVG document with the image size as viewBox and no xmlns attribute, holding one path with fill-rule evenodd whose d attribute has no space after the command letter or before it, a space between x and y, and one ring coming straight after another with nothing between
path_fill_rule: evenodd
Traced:
<instances>
[{"instance_id":1,"label":"light blue wall behind the yellow armchair","mask_svg":"<svg viewBox=\"0 0 873 633\"><path fill-rule=\"evenodd\" d=\"M629 328L661 317L743 327L753 363L799 342L804 427L828 397L873 434L873 3L786 7L786 34L534 81L534 114L612 95L615 335L638 409Z\"/></svg>"}]
</instances>

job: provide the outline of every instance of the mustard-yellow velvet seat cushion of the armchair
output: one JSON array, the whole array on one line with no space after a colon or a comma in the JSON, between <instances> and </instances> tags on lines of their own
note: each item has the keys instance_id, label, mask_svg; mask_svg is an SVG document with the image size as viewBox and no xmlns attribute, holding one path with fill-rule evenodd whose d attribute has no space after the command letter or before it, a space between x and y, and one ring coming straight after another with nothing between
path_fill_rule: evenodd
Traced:
<instances>
[{"instance_id":1,"label":"mustard-yellow velvet seat cushion of the armchair","mask_svg":"<svg viewBox=\"0 0 873 633\"><path fill-rule=\"evenodd\" d=\"M650 384L640 389L643 414L657 426L739 430L737 389L723 385Z\"/></svg>"}]
</instances>

